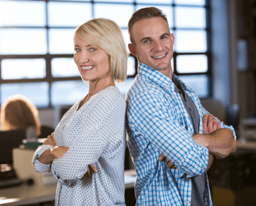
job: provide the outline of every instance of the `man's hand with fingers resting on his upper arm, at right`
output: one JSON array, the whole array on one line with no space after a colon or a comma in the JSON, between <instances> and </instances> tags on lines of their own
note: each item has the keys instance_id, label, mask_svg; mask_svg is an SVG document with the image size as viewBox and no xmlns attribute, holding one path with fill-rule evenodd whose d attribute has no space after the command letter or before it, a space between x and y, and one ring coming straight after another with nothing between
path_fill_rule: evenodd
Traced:
<instances>
[{"instance_id":1,"label":"man's hand with fingers resting on his upper arm, at right","mask_svg":"<svg viewBox=\"0 0 256 206\"><path fill-rule=\"evenodd\" d=\"M215 130L221 128L220 123L215 116L211 114L204 114L203 116L203 133L213 133Z\"/></svg>"}]
</instances>

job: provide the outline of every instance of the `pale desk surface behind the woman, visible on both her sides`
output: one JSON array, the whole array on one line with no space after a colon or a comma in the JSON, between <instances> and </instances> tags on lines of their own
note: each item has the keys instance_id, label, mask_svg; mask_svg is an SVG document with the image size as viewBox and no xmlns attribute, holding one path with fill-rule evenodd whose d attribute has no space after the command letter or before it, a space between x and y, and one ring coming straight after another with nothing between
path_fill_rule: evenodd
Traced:
<instances>
[{"instance_id":1,"label":"pale desk surface behind the woman, visible on both her sides","mask_svg":"<svg viewBox=\"0 0 256 206\"><path fill-rule=\"evenodd\" d=\"M129 171L131 172L131 171ZM128 176L125 172L125 188L130 189L134 187L135 176ZM56 185L44 186L42 189L37 185L10 187L0 189L0 205L15 206L24 204L39 204L42 202L55 201ZM3 198L5 197L5 198Z\"/></svg>"}]
</instances>

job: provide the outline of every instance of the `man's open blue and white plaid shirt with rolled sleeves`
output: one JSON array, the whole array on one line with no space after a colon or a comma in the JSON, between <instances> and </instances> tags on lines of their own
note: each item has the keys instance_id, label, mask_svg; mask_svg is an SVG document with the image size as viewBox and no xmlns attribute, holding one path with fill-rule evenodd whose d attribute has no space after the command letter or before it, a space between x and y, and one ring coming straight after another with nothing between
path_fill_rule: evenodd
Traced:
<instances>
[{"instance_id":1,"label":"man's open blue and white plaid shirt with rolled sleeves","mask_svg":"<svg viewBox=\"0 0 256 206\"><path fill-rule=\"evenodd\" d=\"M200 127L208 113L197 94L174 74L172 80L140 63L139 72L126 94L128 146L137 172L137 205L190 205L191 177L203 174L208 165L208 149L195 144L193 125L175 84L181 83L196 105ZM219 121L219 119L218 119ZM232 126L225 126L236 134ZM176 165L167 169L158 161L160 154ZM205 205L212 205L206 178Z\"/></svg>"}]
</instances>

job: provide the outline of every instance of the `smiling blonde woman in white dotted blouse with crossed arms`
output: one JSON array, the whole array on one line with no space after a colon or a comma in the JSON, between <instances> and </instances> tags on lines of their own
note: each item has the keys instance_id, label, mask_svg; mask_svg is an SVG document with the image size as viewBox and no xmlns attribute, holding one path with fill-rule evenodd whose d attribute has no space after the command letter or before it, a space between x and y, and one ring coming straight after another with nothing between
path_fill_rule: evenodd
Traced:
<instances>
[{"instance_id":1,"label":"smiling blonde woman in white dotted blouse with crossed arms","mask_svg":"<svg viewBox=\"0 0 256 206\"><path fill-rule=\"evenodd\" d=\"M58 179L55 205L125 205L126 102L114 79L126 79L122 33L111 20L89 20L76 29L74 61L89 92L62 117L37 148L37 172ZM86 176L88 165L98 172Z\"/></svg>"}]
</instances>

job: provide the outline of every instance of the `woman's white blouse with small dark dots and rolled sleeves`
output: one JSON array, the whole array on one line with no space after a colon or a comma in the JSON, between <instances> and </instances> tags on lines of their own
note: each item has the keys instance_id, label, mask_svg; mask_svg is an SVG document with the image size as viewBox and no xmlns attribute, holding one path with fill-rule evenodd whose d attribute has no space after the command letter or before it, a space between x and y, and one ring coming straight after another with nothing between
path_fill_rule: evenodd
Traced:
<instances>
[{"instance_id":1,"label":"woman's white blouse with small dark dots and rolled sleeves","mask_svg":"<svg viewBox=\"0 0 256 206\"><path fill-rule=\"evenodd\" d=\"M55 129L56 144L69 147L62 158L52 162L52 173L58 179L55 205L125 205L123 95L117 87L107 87L77 111L78 105L66 112ZM37 148L33 158L37 172L51 171L51 165L37 160L51 147ZM91 163L98 173L84 177Z\"/></svg>"}]
</instances>

